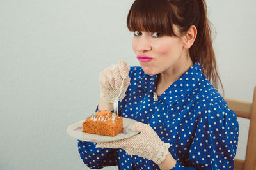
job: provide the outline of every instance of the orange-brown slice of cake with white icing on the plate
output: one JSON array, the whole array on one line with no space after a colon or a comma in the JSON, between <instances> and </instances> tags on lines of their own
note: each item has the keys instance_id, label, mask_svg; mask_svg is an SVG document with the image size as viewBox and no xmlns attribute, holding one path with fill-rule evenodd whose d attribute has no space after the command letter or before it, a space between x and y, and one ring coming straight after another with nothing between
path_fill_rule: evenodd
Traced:
<instances>
[{"instance_id":1,"label":"orange-brown slice of cake with white icing on the plate","mask_svg":"<svg viewBox=\"0 0 256 170\"><path fill-rule=\"evenodd\" d=\"M111 111L98 110L83 122L83 132L90 134L116 136L123 130L123 117Z\"/></svg>"}]
</instances>

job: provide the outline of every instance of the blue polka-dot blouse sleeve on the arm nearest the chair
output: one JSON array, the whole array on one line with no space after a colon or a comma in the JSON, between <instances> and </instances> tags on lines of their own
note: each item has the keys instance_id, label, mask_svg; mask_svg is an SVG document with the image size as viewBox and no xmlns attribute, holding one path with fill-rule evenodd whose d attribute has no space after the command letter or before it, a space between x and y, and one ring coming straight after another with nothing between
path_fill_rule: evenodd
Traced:
<instances>
[{"instance_id":1,"label":"blue polka-dot blouse sleeve on the arm nearest the chair","mask_svg":"<svg viewBox=\"0 0 256 170\"><path fill-rule=\"evenodd\" d=\"M189 148L189 163L195 169L233 169L238 141L238 122L228 106L205 110L198 120ZM187 169L179 162L173 169ZM190 168L189 168L190 169Z\"/></svg>"}]
</instances>

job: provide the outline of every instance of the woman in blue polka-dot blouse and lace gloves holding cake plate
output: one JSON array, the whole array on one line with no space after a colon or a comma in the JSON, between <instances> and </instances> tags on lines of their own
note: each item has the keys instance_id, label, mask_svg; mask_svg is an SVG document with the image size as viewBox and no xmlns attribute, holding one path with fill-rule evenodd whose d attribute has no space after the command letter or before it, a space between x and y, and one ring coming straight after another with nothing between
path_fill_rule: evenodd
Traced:
<instances>
[{"instance_id":1,"label":"woman in blue polka-dot blouse and lace gloves holding cake plate","mask_svg":"<svg viewBox=\"0 0 256 170\"><path fill-rule=\"evenodd\" d=\"M204 0L136 0L127 17L141 67L100 74L100 110L136 120L131 138L78 141L86 166L100 169L233 169L238 123L221 84Z\"/></svg>"}]
</instances>

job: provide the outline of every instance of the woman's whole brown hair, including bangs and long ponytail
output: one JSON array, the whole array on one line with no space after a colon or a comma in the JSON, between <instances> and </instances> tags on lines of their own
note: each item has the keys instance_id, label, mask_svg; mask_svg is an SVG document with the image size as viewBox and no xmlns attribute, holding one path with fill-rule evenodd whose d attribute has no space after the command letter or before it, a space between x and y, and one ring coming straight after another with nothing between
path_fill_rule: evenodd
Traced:
<instances>
[{"instance_id":1,"label":"woman's whole brown hair, including bangs and long ponytail","mask_svg":"<svg viewBox=\"0 0 256 170\"><path fill-rule=\"evenodd\" d=\"M177 36L173 25L177 25L181 34L186 34L191 25L195 25L197 36L189 48L191 60L194 64L200 63L202 73L216 89L220 83L223 90L212 48L210 24L205 0L136 0L127 16L129 31L159 32L165 36Z\"/></svg>"}]
</instances>

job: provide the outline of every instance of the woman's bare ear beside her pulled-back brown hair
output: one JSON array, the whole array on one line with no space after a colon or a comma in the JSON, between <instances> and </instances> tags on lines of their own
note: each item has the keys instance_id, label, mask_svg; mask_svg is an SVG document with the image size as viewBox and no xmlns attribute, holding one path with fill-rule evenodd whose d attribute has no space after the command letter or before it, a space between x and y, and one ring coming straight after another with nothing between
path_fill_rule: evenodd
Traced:
<instances>
[{"instance_id":1,"label":"woman's bare ear beside her pulled-back brown hair","mask_svg":"<svg viewBox=\"0 0 256 170\"><path fill-rule=\"evenodd\" d=\"M192 25L184 35L183 47L188 50L194 43L197 35L197 29L195 25Z\"/></svg>"}]
</instances>

